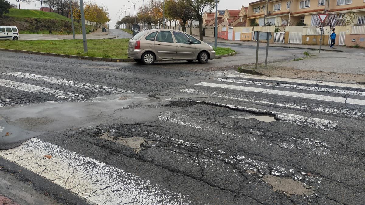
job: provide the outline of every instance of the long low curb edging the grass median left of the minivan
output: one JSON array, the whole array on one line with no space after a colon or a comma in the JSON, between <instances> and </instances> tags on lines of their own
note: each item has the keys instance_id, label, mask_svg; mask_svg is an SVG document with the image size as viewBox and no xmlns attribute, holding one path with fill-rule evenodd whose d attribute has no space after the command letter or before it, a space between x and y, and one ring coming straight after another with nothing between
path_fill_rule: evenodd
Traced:
<instances>
[{"instance_id":1,"label":"long low curb edging the grass median left of the minivan","mask_svg":"<svg viewBox=\"0 0 365 205\"><path fill-rule=\"evenodd\" d=\"M87 59L92 61L107 61L107 62L134 62L134 59L131 58L100 58L100 57L88 57L81 55L66 55L66 54L57 54L57 53L45 53L38 51L24 51L24 50L15 50L15 49L1 49L0 51L10 51L15 53L25 53L25 54L37 54L37 55L48 55L54 57L64 57L64 58L77 58L77 59Z\"/></svg>"}]
</instances>

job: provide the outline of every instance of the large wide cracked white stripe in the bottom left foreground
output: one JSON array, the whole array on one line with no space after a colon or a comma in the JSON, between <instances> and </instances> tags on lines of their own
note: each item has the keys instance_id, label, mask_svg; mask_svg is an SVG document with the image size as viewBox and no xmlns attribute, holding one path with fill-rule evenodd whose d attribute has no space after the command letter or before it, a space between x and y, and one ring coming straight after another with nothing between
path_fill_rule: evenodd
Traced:
<instances>
[{"instance_id":1,"label":"large wide cracked white stripe in the bottom left foreground","mask_svg":"<svg viewBox=\"0 0 365 205\"><path fill-rule=\"evenodd\" d=\"M44 155L52 157L48 159ZM180 193L160 188L149 180L35 138L19 147L1 151L0 156L89 203L195 204Z\"/></svg>"}]
</instances>

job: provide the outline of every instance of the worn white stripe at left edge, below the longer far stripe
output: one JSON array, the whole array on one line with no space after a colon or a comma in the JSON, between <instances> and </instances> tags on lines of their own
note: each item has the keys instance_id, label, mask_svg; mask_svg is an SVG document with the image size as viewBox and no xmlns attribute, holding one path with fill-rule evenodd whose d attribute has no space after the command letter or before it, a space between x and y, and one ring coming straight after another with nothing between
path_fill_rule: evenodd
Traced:
<instances>
[{"instance_id":1,"label":"worn white stripe at left edge, below the longer far stripe","mask_svg":"<svg viewBox=\"0 0 365 205\"><path fill-rule=\"evenodd\" d=\"M43 87L37 86L37 85L30 85L30 84L25 84L22 82L9 81L9 80L5 80L5 79L1 79L1 78L0 78L0 86L14 88L17 90L23 90L26 92L37 93L37 94L50 94L50 95L52 95L54 97L58 97L58 98L78 99L78 98L84 97L83 95L79 95L79 94L75 94L75 93L69 93L69 92L64 92L61 90L55 90L55 89L50 89L50 88L43 88Z\"/></svg>"}]
</instances>

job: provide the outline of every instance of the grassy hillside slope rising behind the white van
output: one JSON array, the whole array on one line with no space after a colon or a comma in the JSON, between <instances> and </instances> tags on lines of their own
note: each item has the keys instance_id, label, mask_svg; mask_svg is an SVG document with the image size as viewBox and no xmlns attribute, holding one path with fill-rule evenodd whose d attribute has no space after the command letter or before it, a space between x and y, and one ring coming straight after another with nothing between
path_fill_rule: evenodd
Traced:
<instances>
[{"instance_id":1,"label":"grassy hillside slope rising behind the white van","mask_svg":"<svg viewBox=\"0 0 365 205\"><path fill-rule=\"evenodd\" d=\"M12 25L18 27L20 33L27 34L29 31L38 31L40 34L66 34L72 31L71 19L58 13L35 11L27 9L9 10L0 18L0 25ZM80 33L80 25L74 22L75 32ZM87 28L87 31L89 28Z\"/></svg>"}]
</instances>

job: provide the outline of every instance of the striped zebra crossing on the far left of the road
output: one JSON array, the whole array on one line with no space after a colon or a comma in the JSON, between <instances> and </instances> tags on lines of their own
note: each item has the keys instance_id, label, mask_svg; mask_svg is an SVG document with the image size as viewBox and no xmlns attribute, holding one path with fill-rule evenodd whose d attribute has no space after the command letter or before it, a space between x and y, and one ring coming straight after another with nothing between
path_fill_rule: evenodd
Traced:
<instances>
[{"instance_id":1,"label":"striped zebra crossing on the far left of the road","mask_svg":"<svg viewBox=\"0 0 365 205\"><path fill-rule=\"evenodd\" d=\"M9 80L9 77L15 78L15 80ZM13 93L12 90L16 90L17 92L35 94L34 98L38 97L41 102L83 101L105 94L134 93L132 90L72 81L63 78L54 78L22 72L9 72L2 73L0 76L0 107L29 103L28 101L22 100L22 98L27 97L19 97L18 99L15 99L15 96L18 93L4 97L3 92L6 92L4 90L5 88L11 89L8 93ZM68 91L68 89L72 91ZM76 93L75 91L79 93ZM49 99L47 100L47 98ZM35 101L38 102L37 100Z\"/></svg>"}]
</instances>

